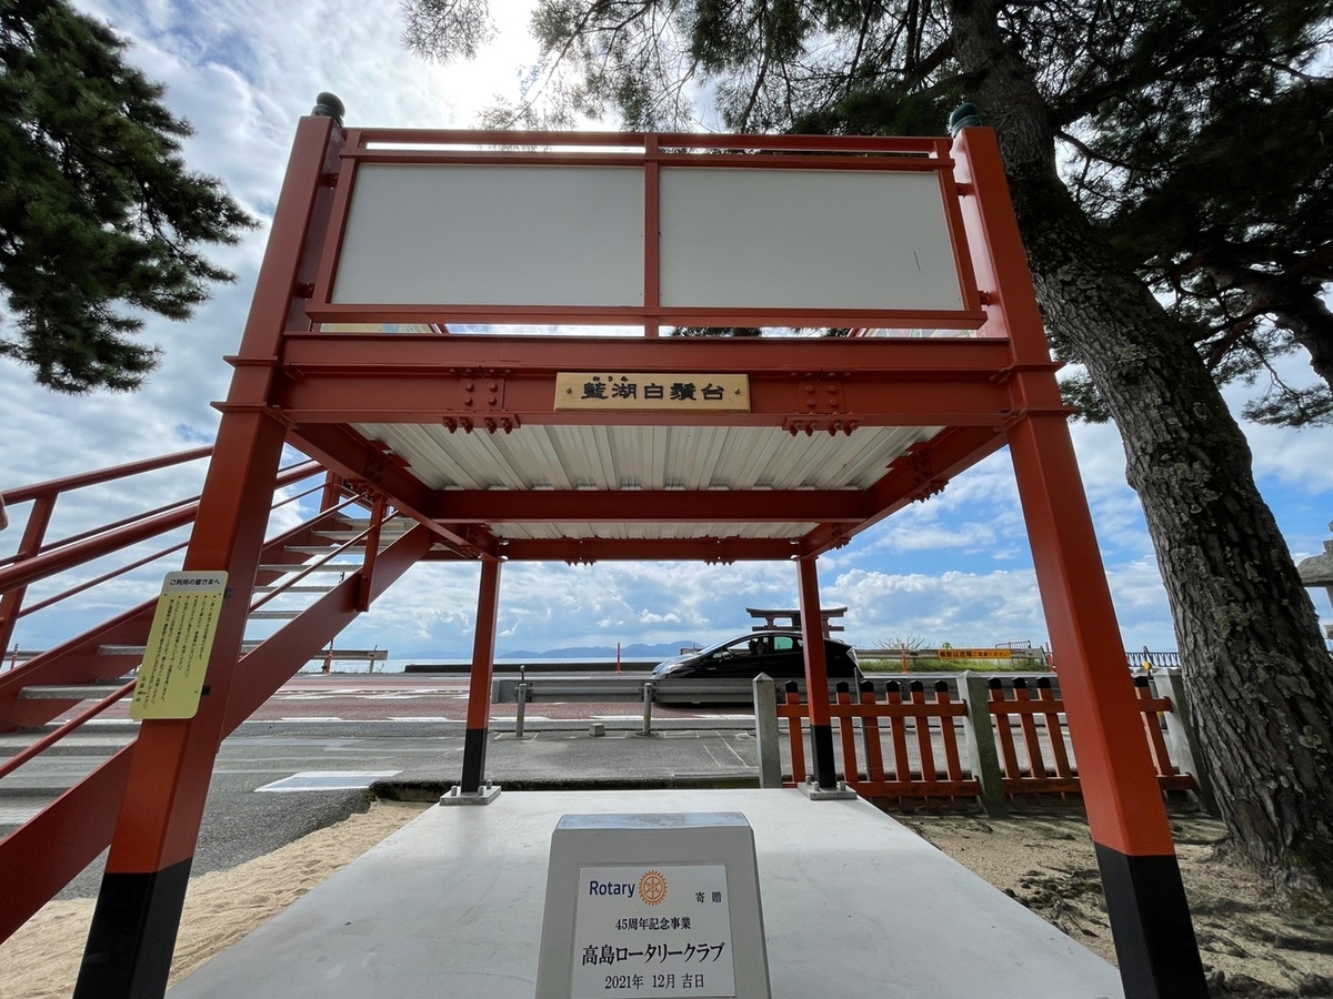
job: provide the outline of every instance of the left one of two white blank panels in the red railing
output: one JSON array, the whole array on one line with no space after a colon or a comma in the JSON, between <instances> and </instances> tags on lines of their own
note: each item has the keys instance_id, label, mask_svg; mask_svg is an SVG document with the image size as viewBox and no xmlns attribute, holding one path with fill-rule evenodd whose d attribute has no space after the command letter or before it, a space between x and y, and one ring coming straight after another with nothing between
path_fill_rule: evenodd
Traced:
<instances>
[{"instance_id":1,"label":"left one of two white blank panels in the red railing","mask_svg":"<svg viewBox=\"0 0 1333 999\"><path fill-rule=\"evenodd\" d=\"M643 305L643 169L364 164L332 300Z\"/></svg>"}]
</instances>

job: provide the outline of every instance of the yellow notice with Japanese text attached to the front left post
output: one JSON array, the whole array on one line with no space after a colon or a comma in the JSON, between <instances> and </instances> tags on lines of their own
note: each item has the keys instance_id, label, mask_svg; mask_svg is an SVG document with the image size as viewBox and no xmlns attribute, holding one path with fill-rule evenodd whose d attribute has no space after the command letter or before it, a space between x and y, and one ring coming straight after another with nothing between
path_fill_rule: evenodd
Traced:
<instances>
[{"instance_id":1,"label":"yellow notice with Japanese text attached to the front left post","mask_svg":"<svg viewBox=\"0 0 1333 999\"><path fill-rule=\"evenodd\" d=\"M168 573L129 717L193 718L223 614L227 573Z\"/></svg>"}]
</instances>

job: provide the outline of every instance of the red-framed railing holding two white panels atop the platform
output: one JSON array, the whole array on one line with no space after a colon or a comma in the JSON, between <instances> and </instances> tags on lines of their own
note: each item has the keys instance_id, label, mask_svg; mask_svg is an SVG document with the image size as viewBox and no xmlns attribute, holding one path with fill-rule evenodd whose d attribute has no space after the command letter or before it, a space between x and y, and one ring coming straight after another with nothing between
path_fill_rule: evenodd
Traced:
<instances>
[{"instance_id":1,"label":"red-framed railing holding two white panels atop the platform","mask_svg":"<svg viewBox=\"0 0 1333 999\"><path fill-rule=\"evenodd\" d=\"M563 133L539 147L515 133L496 148L493 133L432 132L423 148L392 129L347 137L305 309L317 322L641 325L656 336L660 325L986 321L948 140ZM547 181L564 196L543 196ZM451 193L457 185L473 196ZM825 242L801 249L813 217ZM734 268L697 258L702 241L734 264L721 244L736 240L749 248L742 285Z\"/></svg>"}]
</instances>

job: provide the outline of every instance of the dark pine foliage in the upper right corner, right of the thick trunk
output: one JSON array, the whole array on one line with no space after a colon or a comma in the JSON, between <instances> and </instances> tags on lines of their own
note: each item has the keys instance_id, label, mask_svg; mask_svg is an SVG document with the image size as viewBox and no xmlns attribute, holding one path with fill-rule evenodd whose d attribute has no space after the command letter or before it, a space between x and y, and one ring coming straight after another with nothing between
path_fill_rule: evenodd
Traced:
<instances>
[{"instance_id":1,"label":"dark pine foliage in the upper right corner, right of the thick trunk","mask_svg":"<svg viewBox=\"0 0 1333 999\"><path fill-rule=\"evenodd\" d=\"M1080 59L1066 103L1090 108L1090 128L1061 131L1080 205L1169 296L1220 384L1268 382L1244 409L1268 424L1333 422L1328 13L1154 5L1136 31L1097 44L1096 69ZM1280 377L1276 358L1300 350L1321 384ZM1102 414L1094 394L1080 401Z\"/></svg>"}]
</instances>

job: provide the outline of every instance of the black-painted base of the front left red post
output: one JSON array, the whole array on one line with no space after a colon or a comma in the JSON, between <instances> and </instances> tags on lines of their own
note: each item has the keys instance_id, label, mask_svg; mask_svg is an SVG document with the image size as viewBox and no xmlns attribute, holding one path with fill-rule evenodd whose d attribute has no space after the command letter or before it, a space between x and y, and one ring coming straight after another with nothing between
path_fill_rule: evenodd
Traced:
<instances>
[{"instance_id":1,"label":"black-painted base of the front left red post","mask_svg":"<svg viewBox=\"0 0 1333 999\"><path fill-rule=\"evenodd\" d=\"M161 999L192 862L103 875L75 999Z\"/></svg>"}]
</instances>

